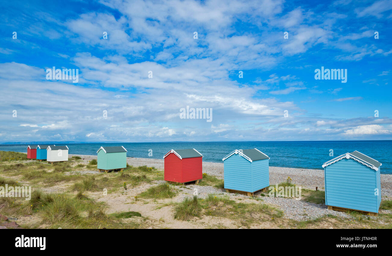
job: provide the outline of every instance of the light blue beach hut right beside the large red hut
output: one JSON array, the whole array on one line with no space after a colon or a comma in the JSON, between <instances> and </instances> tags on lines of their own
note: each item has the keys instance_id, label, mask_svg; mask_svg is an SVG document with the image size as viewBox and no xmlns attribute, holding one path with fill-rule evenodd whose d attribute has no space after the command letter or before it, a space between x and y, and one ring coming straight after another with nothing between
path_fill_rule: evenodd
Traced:
<instances>
[{"instance_id":1,"label":"light blue beach hut right beside the large red hut","mask_svg":"<svg viewBox=\"0 0 392 256\"><path fill-rule=\"evenodd\" d=\"M227 192L252 196L269 186L269 157L257 148L234 150L223 160L223 179Z\"/></svg>"}]
</instances>

